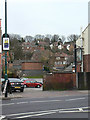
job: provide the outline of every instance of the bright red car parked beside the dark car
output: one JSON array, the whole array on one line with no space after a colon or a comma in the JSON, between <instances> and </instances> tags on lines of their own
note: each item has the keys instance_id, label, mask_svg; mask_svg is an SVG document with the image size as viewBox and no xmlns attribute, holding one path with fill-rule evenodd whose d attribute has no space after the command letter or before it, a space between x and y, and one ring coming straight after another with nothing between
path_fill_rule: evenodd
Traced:
<instances>
[{"instance_id":1,"label":"bright red car parked beside the dark car","mask_svg":"<svg viewBox=\"0 0 90 120\"><path fill-rule=\"evenodd\" d=\"M42 86L42 83L33 80L25 80L23 83L24 87L40 88Z\"/></svg>"}]
</instances>

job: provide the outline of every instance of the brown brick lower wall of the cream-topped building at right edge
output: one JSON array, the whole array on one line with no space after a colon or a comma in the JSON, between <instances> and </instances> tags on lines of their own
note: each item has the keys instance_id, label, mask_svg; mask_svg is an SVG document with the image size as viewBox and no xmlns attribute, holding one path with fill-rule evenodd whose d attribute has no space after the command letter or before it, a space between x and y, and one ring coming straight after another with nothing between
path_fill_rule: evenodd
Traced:
<instances>
[{"instance_id":1,"label":"brown brick lower wall of the cream-topped building at right edge","mask_svg":"<svg viewBox=\"0 0 90 120\"><path fill-rule=\"evenodd\" d=\"M84 72L90 72L90 54L83 56L83 67Z\"/></svg>"}]
</instances>

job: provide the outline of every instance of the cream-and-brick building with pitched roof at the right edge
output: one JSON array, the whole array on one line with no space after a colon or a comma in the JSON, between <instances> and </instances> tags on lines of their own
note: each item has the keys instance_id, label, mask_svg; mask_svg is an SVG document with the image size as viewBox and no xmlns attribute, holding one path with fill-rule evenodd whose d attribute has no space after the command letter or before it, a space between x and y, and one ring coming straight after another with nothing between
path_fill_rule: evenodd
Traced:
<instances>
[{"instance_id":1,"label":"cream-and-brick building with pitched roof at the right edge","mask_svg":"<svg viewBox=\"0 0 90 120\"><path fill-rule=\"evenodd\" d=\"M81 33L76 46L77 67L80 67L81 72L90 72L90 24Z\"/></svg>"}]
</instances>

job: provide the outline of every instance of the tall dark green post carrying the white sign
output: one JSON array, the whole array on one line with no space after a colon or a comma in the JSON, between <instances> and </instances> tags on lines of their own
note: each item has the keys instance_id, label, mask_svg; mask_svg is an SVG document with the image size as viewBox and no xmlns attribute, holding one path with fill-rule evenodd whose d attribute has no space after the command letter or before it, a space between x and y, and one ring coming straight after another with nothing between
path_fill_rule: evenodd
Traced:
<instances>
[{"instance_id":1,"label":"tall dark green post carrying the white sign","mask_svg":"<svg viewBox=\"0 0 90 120\"><path fill-rule=\"evenodd\" d=\"M5 0L5 38L7 38L7 0ZM5 51L5 82L8 79L7 76L7 51ZM5 97L7 97L7 87L5 91Z\"/></svg>"}]
</instances>

